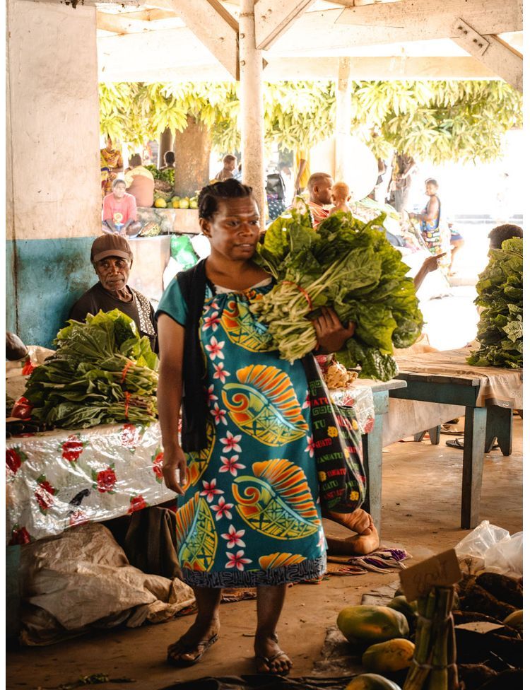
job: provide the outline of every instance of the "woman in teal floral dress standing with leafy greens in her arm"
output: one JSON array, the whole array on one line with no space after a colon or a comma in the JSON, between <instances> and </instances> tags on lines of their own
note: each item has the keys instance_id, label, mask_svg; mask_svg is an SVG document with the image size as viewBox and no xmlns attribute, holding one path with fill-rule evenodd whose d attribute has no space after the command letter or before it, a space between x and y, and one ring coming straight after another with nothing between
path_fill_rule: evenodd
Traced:
<instances>
[{"instance_id":1,"label":"woman in teal floral dress standing with leafy greens in her arm","mask_svg":"<svg viewBox=\"0 0 530 690\"><path fill-rule=\"evenodd\" d=\"M257 671L287 674L276 636L286 587L326 569L307 379L300 361L279 358L249 310L272 287L252 261L260 228L252 189L208 185L199 222L211 255L170 283L157 312L163 474L183 496L179 563L198 607L167 659L192 665L216 641L222 587L257 587ZM320 352L353 333L329 311L314 326Z\"/></svg>"}]
</instances>

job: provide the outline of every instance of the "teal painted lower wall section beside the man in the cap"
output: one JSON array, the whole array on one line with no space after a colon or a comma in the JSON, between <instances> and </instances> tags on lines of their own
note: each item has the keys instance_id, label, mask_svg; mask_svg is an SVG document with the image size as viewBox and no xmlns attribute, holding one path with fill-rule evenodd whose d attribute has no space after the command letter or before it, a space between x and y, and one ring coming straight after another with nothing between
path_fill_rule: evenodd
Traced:
<instances>
[{"instance_id":1,"label":"teal painted lower wall section beside the man in the cap","mask_svg":"<svg viewBox=\"0 0 530 690\"><path fill-rule=\"evenodd\" d=\"M98 280L90 264L94 240L6 242L7 328L25 344L51 347L71 305Z\"/></svg>"}]
</instances>

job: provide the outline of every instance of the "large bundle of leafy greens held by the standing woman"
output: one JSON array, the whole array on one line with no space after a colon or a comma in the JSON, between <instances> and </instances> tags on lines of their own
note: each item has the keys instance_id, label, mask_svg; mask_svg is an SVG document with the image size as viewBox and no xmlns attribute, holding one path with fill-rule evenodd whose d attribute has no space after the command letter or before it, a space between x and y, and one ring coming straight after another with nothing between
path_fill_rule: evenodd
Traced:
<instances>
[{"instance_id":1,"label":"large bundle of leafy greens held by the standing woman","mask_svg":"<svg viewBox=\"0 0 530 690\"><path fill-rule=\"evenodd\" d=\"M382 381L397 373L395 347L408 347L423 325L413 280L401 254L377 228L351 214L332 214L312 227L307 209L280 216L258 245L256 260L277 283L257 298L252 311L269 326L280 356L293 362L317 346L310 319L334 308L353 337L336 358L360 376Z\"/></svg>"}]
</instances>

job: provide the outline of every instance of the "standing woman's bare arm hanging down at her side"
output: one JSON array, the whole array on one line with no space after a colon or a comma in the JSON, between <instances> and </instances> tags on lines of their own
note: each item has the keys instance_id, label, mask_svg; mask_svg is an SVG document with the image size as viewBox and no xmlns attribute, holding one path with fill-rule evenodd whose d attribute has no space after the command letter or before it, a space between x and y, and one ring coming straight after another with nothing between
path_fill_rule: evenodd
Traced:
<instances>
[{"instance_id":1,"label":"standing woman's bare arm hanging down at her side","mask_svg":"<svg viewBox=\"0 0 530 690\"><path fill-rule=\"evenodd\" d=\"M162 431L164 461L162 472L167 489L184 494L186 457L179 445L179 416L182 402L182 360L184 327L167 314L158 317L158 419Z\"/></svg>"}]
</instances>

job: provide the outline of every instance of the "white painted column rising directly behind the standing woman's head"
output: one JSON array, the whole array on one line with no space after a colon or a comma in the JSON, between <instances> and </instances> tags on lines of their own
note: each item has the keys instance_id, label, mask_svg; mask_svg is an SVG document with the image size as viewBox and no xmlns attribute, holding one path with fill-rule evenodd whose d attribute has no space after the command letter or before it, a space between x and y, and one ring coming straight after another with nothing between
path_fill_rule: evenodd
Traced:
<instances>
[{"instance_id":1,"label":"white painted column rising directly behind the standing woman's head","mask_svg":"<svg viewBox=\"0 0 530 690\"><path fill-rule=\"evenodd\" d=\"M241 152L243 182L254 188L261 214L266 218L263 115L263 58L256 49L254 0L241 0L240 13Z\"/></svg>"}]
</instances>

